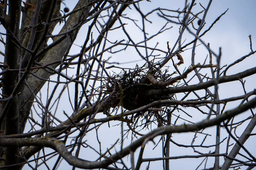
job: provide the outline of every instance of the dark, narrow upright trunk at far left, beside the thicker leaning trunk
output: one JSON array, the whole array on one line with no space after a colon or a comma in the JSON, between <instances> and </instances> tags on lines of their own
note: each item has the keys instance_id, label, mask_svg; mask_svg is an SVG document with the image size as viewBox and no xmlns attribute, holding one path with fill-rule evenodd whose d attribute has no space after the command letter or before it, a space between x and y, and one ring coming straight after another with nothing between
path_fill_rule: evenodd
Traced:
<instances>
[{"instance_id":1,"label":"dark, narrow upright trunk at far left, beside the thicker leaning trunk","mask_svg":"<svg viewBox=\"0 0 256 170\"><path fill-rule=\"evenodd\" d=\"M14 42L14 37L19 37L21 0L10 0L9 11L6 21L6 50L4 65L10 69L18 68L19 48ZM10 97L17 83L17 72L9 71L3 74L3 97ZM12 96L11 96L12 97ZM5 104L4 104L5 105ZM5 116L5 135L20 133L20 122L18 112L17 97L12 102ZM5 164L12 165L18 163L19 147L5 148ZM17 167L8 167L7 170L15 170Z\"/></svg>"}]
</instances>

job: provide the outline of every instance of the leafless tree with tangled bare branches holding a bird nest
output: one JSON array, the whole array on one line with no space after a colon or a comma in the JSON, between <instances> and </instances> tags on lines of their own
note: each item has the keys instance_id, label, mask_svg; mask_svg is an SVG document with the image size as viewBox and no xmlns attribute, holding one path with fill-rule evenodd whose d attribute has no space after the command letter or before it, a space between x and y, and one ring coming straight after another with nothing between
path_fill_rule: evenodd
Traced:
<instances>
[{"instance_id":1,"label":"leafless tree with tangled bare branches holding a bird nest","mask_svg":"<svg viewBox=\"0 0 256 170\"><path fill-rule=\"evenodd\" d=\"M73 170L139 170L143 163L150 169L150 163L158 161L159 169L169 170L170 160L183 158L204 158L197 169L256 166L256 158L244 146L255 135L256 90L246 91L245 78L255 77L256 67L227 74L256 52L251 36L251 51L230 65L221 65L221 48L215 52L203 39L227 11L206 28L212 0L207 6L186 0L180 9L156 7L146 12L140 4L149 0L76 3L73 10L63 0L0 3L0 22L6 30L0 40L5 51L0 51L4 57L0 65L0 168L19 170L27 164L31 169L55 170L64 160ZM195 12L195 6L201 11ZM134 18L131 11L139 17ZM148 23L154 27L152 16L165 24L148 33ZM78 38L82 26L87 32ZM165 47L152 43L173 26L178 26L175 43L165 42ZM134 30L140 31L143 40L134 36ZM117 40L111 38L113 34L119 35ZM76 44L82 38L82 44ZM195 62L198 47L207 49L201 63ZM110 57L125 53L134 59L128 67ZM184 58L184 53L191 58ZM188 67L180 70L185 64ZM218 87L235 81L241 83L244 95L221 98ZM234 101L239 104L226 109ZM192 112L199 122L191 119ZM245 117L235 119L240 113ZM111 131L116 128L113 125L121 130ZM207 127L216 130L207 131ZM240 136L239 128L243 130ZM116 142L102 139L102 132ZM194 137L184 144L175 133ZM87 142L90 134L96 136L93 144ZM209 136L215 140L206 142ZM143 155L150 141L162 156ZM172 146L195 154L180 156ZM214 161L207 161L210 157Z\"/></svg>"}]
</instances>

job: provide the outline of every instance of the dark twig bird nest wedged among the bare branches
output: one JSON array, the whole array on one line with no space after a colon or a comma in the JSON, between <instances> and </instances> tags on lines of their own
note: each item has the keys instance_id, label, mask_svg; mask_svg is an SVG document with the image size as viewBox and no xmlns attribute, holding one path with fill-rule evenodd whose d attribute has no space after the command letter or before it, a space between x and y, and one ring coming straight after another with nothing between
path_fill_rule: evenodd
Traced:
<instances>
[{"instance_id":1,"label":"dark twig bird nest wedged among the bare branches","mask_svg":"<svg viewBox=\"0 0 256 170\"><path fill-rule=\"evenodd\" d=\"M171 78L172 74L156 71L156 68L141 67L114 75L106 83L107 93L111 96L110 105L115 108L121 105L123 108L131 111L151 102L163 99L171 99L172 95L148 95L149 91L163 89L166 86L159 86L155 81L165 81ZM154 81L152 81L152 78ZM161 105L155 105L154 108L160 108Z\"/></svg>"}]
</instances>

